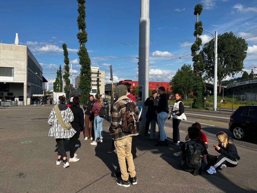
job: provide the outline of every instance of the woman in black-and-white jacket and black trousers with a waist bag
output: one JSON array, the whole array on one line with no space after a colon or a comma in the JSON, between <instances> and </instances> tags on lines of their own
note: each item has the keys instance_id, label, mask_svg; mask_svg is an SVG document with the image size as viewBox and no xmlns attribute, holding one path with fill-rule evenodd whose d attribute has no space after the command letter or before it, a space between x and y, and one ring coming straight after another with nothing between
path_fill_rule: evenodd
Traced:
<instances>
[{"instance_id":1,"label":"woman in black-and-white jacket and black trousers with a waist bag","mask_svg":"<svg viewBox=\"0 0 257 193\"><path fill-rule=\"evenodd\" d=\"M182 119L186 120L186 116L184 113L184 104L183 101L181 100L181 96L180 93L176 93L175 94L175 99L176 102L173 106L173 110L170 114L170 117L168 118L168 120L170 120L170 118L172 117L172 126L173 126L173 144L179 146L179 142L180 142L180 135L179 135L179 124L181 122ZM183 115L182 115L183 114Z\"/></svg>"}]
</instances>

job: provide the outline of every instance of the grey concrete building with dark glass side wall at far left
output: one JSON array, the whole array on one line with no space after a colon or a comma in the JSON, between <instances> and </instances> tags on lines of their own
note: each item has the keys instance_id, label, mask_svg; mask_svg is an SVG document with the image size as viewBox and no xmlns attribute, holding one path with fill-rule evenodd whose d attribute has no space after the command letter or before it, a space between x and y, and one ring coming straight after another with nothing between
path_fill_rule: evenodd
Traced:
<instances>
[{"instance_id":1,"label":"grey concrete building with dark glass side wall at far left","mask_svg":"<svg viewBox=\"0 0 257 193\"><path fill-rule=\"evenodd\" d=\"M0 98L24 101L43 96L43 69L27 46L0 43Z\"/></svg>"}]
</instances>

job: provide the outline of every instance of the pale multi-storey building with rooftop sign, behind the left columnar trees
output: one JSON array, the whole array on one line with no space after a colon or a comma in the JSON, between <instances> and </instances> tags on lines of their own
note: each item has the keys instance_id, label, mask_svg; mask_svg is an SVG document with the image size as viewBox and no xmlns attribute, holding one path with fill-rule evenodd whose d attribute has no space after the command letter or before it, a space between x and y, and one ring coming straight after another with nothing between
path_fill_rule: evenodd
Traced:
<instances>
[{"instance_id":1,"label":"pale multi-storey building with rooftop sign, behind the left columnar trees","mask_svg":"<svg viewBox=\"0 0 257 193\"><path fill-rule=\"evenodd\" d=\"M90 94L95 95L97 93L97 71L99 67L91 67L91 85L92 89ZM75 78L75 88L79 88L80 76ZM100 94L105 93L105 71L99 71L99 87Z\"/></svg>"}]
</instances>

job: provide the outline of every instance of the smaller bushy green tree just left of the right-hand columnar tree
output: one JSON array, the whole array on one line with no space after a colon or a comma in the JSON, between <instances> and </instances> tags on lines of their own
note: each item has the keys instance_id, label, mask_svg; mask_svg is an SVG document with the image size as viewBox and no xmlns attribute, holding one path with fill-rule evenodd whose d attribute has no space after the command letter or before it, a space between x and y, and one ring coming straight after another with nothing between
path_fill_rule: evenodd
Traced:
<instances>
[{"instance_id":1,"label":"smaller bushy green tree just left of the right-hand columnar tree","mask_svg":"<svg viewBox=\"0 0 257 193\"><path fill-rule=\"evenodd\" d=\"M195 75L191 65L184 64L181 69L178 69L177 73L170 81L172 93L175 94L178 92L186 99L193 90L194 79Z\"/></svg>"}]
</instances>

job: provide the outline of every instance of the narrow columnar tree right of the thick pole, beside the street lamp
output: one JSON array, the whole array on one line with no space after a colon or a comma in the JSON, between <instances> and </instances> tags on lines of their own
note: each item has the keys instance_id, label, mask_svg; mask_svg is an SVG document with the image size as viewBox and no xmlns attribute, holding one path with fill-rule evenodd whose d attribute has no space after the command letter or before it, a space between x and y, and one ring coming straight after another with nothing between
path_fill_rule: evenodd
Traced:
<instances>
[{"instance_id":1,"label":"narrow columnar tree right of the thick pole, beside the street lamp","mask_svg":"<svg viewBox=\"0 0 257 193\"><path fill-rule=\"evenodd\" d=\"M202 12L202 5L197 4L194 7L194 15L196 15L196 23L194 24L194 36L196 37L196 41L191 46L191 55L192 55L192 61L194 72L195 72L195 80L194 80L194 86L193 86L193 92L194 92L194 106L196 108L203 106L204 104L204 92L206 90L206 87L202 81L202 72L204 71L204 64L202 62L202 55L197 54L197 51L200 50L200 46L202 45L202 39L199 37L199 35L202 35L202 29L199 29L197 27L202 27L202 21L198 21L199 15L201 15Z\"/></svg>"}]
</instances>

